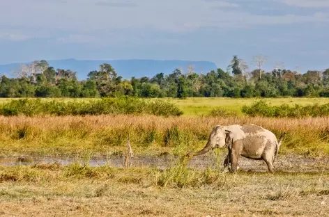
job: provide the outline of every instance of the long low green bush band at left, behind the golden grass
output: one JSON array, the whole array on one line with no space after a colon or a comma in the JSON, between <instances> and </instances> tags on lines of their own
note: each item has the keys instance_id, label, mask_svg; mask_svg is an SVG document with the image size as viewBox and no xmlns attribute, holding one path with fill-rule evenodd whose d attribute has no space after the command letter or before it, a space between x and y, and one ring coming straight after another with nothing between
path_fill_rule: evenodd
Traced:
<instances>
[{"instance_id":1,"label":"long low green bush band at left, behind the golden grass","mask_svg":"<svg viewBox=\"0 0 329 217\"><path fill-rule=\"evenodd\" d=\"M87 101L62 102L56 99L18 99L0 104L0 115L102 115L151 114L159 116L182 115L174 104L164 100L146 101L136 97L102 98Z\"/></svg>"}]
</instances>

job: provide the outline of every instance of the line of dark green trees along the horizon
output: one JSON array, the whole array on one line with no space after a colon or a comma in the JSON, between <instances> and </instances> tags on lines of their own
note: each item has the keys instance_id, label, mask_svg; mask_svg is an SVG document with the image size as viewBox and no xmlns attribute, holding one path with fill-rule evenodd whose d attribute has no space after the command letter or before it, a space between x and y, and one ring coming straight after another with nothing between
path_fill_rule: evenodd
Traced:
<instances>
[{"instance_id":1,"label":"line of dark green trees along the horizon","mask_svg":"<svg viewBox=\"0 0 329 217\"><path fill-rule=\"evenodd\" d=\"M123 79L104 63L78 81L77 72L33 61L20 65L14 78L0 77L0 97L329 97L329 69L300 74L277 63L265 72L265 62L265 57L255 56L257 67L249 72L245 61L234 56L225 71L197 74L190 66L186 73L175 69L167 75L131 79Z\"/></svg>"}]
</instances>

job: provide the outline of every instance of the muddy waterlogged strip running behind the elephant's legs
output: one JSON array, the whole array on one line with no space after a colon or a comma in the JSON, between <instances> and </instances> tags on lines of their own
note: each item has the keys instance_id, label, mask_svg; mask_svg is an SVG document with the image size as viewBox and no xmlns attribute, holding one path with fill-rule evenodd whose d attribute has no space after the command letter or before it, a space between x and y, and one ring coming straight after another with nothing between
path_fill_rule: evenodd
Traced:
<instances>
[{"instance_id":1,"label":"muddy waterlogged strip running behind the elephant's legs","mask_svg":"<svg viewBox=\"0 0 329 217\"><path fill-rule=\"evenodd\" d=\"M174 166L179 160L178 157L170 156L150 156L150 157L134 157L132 159L132 167L141 168L169 168ZM36 165L45 163L59 163L63 166L67 166L71 163L79 163L82 165L89 164L89 166L109 166L122 168L123 167L122 156L111 156L109 158L98 157L92 159L81 159L74 157L0 157L0 166L17 166L17 165ZM217 158L213 154L206 156L194 156L188 163L189 168L216 168L217 165L222 168L222 161L224 161L224 155L221 154ZM255 161L240 158L239 167L241 170L253 171L253 172L266 172L267 166L263 161ZM275 169L286 172L312 172L329 170L329 157L323 158L306 158L304 156L285 155L278 156L275 161Z\"/></svg>"}]
</instances>

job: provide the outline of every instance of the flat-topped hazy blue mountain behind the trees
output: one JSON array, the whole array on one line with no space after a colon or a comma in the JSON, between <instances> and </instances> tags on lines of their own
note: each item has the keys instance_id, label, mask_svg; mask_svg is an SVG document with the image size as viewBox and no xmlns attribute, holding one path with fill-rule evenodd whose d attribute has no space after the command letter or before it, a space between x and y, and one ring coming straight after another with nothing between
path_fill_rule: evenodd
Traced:
<instances>
[{"instance_id":1,"label":"flat-topped hazy blue mountain behind the trees","mask_svg":"<svg viewBox=\"0 0 329 217\"><path fill-rule=\"evenodd\" d=\"M194 71L200 74L201 72L209 72L217 70L217 66L209 61L158 61L158 60L114 60L114 61L88 61L76 59L64 59L47 61L54 69L72 70L77 72L79 80L86 79L87 74L93 70L99 70L99 65L109 63L114 67L118 76L124 79L131 77L153 77L155 74L163 72L169 74L176 68L188 71L188 65L193 65ZM0 73L7 77L13 77L13 70L17 69L20 63L12 63L8 65L0 65Z\"/></svg>"}]
</instances>

